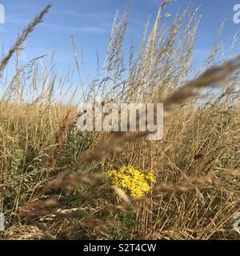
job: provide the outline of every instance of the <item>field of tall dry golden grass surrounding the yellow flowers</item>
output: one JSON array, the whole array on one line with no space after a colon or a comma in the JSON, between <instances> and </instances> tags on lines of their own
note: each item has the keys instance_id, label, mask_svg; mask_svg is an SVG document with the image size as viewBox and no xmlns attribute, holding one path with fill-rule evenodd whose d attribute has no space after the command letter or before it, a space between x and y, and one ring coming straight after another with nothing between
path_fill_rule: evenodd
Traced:
<instances>
[{"instance_id":1,"label":"field of tall dry golden grass surrounding the yellow flowers","mask_svg":"<svg viewBox=\"0 0 240 256\"><path fill-rule=\"evenodd\" d=\"M165 26L168 2L130 54L122 47L129 13L114 22L105 66L87 86L66 88L69 74L54 73L54 58L46 66L43 56L18 66L26 38L50 6L2 53L0 212L6 229L0 239L240 238L233 229L240 205L240 57L223 58L221 27L195 72L198 10L178 13ZM73 35L80 73L76 44ZM15 74L6 79L10 58ZM83 102L99 95L118 103L162 102L162 140L148 140L147 132L79 132L79 95ZM146 171L155 182L134 197L107 175L122 166Z\"/></svg>"}]
</instances>

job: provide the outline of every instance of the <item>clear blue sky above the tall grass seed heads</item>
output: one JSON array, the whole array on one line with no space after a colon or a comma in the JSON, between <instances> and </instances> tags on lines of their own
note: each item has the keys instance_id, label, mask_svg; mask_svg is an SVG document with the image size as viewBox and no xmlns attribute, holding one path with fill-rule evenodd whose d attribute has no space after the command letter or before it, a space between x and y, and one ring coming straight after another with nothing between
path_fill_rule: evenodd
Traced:
<instances>
[{"instance_id":1,"label":"clear blue sky above the tall grass seed heads","mask_svg":"<svg viewBox=\"0 0 240 256\"><path fill-rule=\"evenodd\" d=\"M5 6L6 22L0 24L0 40L6 50L14 43L16 34L30 22L47 3L53 4L44 22L38 25L26 42L26 50L22 54L22 62L27 62L38 54L50 54L55 47L58 70L64 71L74 65L71 50L72 33L75 34L78 54L82 51L82 75L86 76L96 69L96 51L103 60L106 54L110 26L118 10L121 14L128 6L131 7L130 23L126 31L126 45L139 42L148 18L153 24L161 0L0 0ZM218 27L226 18L226 26L222 34L222 42L226 53L234 34L240 24L233 22L233 7L239 1L232 0L178 0L171 2L166 12L173 14L178 8L184 10L189 3L194 8L201 6L199 11L202 20L198 28L197 42L194 51L194 62L203 62L210 53ZM236 45L236 53L240 44Z\"/></svg>"}]
</instances>

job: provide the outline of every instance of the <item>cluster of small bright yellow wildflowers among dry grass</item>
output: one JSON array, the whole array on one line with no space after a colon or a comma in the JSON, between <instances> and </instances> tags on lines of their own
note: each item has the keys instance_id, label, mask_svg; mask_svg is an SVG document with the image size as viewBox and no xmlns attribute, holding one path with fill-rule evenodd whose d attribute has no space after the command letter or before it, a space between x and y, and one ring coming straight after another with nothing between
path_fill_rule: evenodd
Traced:
<instances>
[{"instance_id":1,"label":"cluster of small bright yellow wildflowers among dry grass","mask_svg":"<svg viewBox=\"0 0 240 256\"><path fill-rule=\"evenodd\" d=\"M150 190L150 183L156 182L154 174L123 166L118 170L108 170L107 176L113 179L113 185L122 188L133 198L142 198Z\"/></svg>"}]
</instances>

